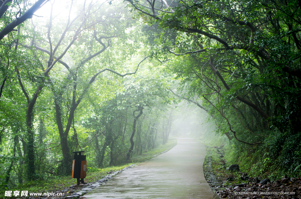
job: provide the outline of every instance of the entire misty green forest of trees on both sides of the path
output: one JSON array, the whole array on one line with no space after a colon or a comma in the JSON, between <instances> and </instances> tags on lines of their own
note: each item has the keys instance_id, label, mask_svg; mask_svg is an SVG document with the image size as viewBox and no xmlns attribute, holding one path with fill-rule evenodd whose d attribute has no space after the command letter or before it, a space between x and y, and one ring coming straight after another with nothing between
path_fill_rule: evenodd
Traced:
<instances>
[{"instance_id":1,"label":"entire misty green forest of trees on both sides of the path","mask_svg":"<svg viewBox=\"0 0 301 199\"><path fill-rule=\"evenodd\" d=\"M69 175L73 151L103 168L172 131L211 133L195 110L175 117L179 99L226 135L229 161L300 173L299 1L23 0L0 15L2 188Z\"/></svg>"}]
</instances>

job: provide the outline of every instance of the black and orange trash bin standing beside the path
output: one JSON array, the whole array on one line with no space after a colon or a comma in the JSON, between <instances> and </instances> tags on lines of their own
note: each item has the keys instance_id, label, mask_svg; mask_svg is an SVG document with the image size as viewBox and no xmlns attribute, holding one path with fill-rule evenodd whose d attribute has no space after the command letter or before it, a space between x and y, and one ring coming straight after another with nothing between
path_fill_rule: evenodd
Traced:
<instances>
[{"instance_id":1,"label":"black and orange trash bin standing beside the path","mask_svg":"<svg viewBox=\"0 0 301 199\"><path fill-rule=\"evenodd\" d=\"M87 184L84 182L87 171L87 161L86 156L82 155L84 151L75 151L73 165L72 165L72 178L77 179L77 185L80 183Z\"/></svg>"}]
</instances>

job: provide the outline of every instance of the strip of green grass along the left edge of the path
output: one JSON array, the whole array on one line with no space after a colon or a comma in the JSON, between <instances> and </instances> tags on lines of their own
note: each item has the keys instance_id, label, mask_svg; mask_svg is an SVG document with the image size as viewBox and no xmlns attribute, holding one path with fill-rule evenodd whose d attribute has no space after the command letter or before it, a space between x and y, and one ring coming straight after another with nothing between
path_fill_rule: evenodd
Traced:
<instances>
[{"instance_id":1,"label":"strip of green grass along the left edge of the path","mask_svg":"<svg viewBox=\"0 0 301 199\"><path fill-rule=\"evenodd\" d=\"M142 155L133 155L131 162L124 163L119 166L106 167L103 169L100 168L87 168L87 177L85 182L91 183L96 182L96 180L101 179L102 177L108 175L107 172L114 172L121 170L131 164L139 164L143 161L146 161L150 158L153 158L154 155L158 155L161 152L172 148L177 144L176 139L169 138L169 141L165 145L160 145L157 148L151 149L148 152L145 152ZM48 179L44 180L35 180L31 182L25 182L22 185L19 185L14 188L8 188L8 191L28 191L28 192L56 192L61 191L65 188L69 188L70 185L76 184L76 179L71 178L71 176L50 176ZM0 198L7 198L4 196L6 190L0 191ZM14 196L12 196L14 198Z\"/></svg>"}]
</instances>

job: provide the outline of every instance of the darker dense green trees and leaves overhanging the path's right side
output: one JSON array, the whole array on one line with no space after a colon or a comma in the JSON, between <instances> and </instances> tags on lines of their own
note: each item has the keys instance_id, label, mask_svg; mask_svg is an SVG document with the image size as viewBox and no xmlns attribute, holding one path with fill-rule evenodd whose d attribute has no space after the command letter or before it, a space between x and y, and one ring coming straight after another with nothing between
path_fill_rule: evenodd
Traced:
<instances>
[{"instance_id":1,"label":"darker dense green trees and leaves overhanging the path's right side","mask_svg":"<svg viewBox=\"0 0 301 199\"><path fill-rule=\"evenodd\" d=\"M172 58L182 98L228 136L234 161L300 173L300 1L127 2L148 24L154 56Z\"/></svg>"}]
</instances>

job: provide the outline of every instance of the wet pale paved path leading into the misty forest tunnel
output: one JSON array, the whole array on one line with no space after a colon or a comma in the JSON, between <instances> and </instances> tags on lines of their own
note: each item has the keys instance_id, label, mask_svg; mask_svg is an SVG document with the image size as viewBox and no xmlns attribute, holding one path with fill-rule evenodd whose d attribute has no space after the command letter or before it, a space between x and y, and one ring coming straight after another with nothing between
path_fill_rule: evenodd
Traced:
<instances>
[{"instance_id":1,"label":"wet pale paved path leading into the misty forest tunnel","mask_svg":"<svg viewBox=\"0 0 301 199\"><path fill-rule=\"evenodd\" d=\"M168 152L119 173L84 198L206 198L213 192L203 173L204 145L178 138Z\"/></svg>"}]
</instances>

